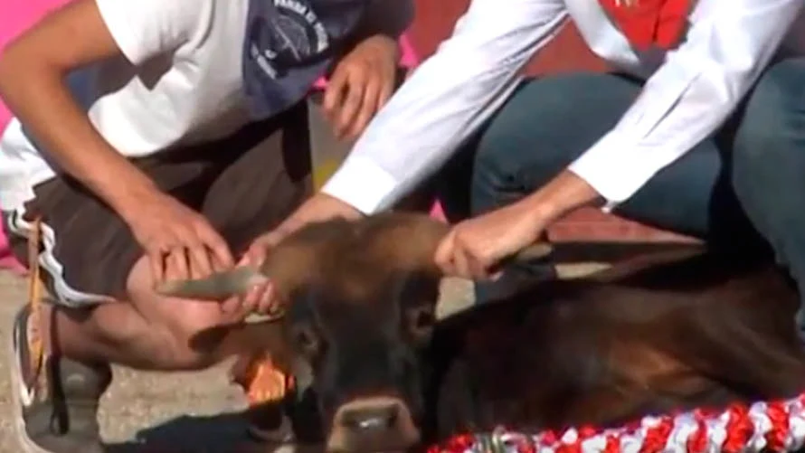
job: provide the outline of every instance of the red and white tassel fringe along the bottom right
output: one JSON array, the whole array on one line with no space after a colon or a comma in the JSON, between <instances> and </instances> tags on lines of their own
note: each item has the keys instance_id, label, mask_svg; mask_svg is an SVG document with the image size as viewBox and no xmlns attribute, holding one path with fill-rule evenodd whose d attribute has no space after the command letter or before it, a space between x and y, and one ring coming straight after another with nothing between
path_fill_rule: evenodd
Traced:
<instances>
[{"instance_id":1,"label":"red and white tassel fringe along the bottom right","mask_svg":"<svg viewBox=\"0 0 805 453\"><path fill-rule=\"evenodd\" d=\"M617 429L525 434L497 429L456 436L428 453L744 453L797 451L805 443L805 393L725 411L649 416Z\"/></svg>"}]
</instances>

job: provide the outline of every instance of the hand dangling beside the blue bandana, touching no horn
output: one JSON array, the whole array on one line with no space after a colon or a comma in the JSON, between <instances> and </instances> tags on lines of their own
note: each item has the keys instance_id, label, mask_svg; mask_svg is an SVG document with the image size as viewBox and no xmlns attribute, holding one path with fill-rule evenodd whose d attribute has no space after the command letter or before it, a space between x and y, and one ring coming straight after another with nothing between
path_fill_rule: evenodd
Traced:
<instances>
[{"instance_id":1,"label":"hand dangling beside the blue bandana, touching no horn","mask_svg":"<svg viewBox=\"0 0 805 453\"><path fill-rule=\"evenodd\" d=\"M374 114L391 98L399 59L397 42L374 35L338 62L327 84L323 108L336 137L361 135Z\"/></svg>"}]
</instances>

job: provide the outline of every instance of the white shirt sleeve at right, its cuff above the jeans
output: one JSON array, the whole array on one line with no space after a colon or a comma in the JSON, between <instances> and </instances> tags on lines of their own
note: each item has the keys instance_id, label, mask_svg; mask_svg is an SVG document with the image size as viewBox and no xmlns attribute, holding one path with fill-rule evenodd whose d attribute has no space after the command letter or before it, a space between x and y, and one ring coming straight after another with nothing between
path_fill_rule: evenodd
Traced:
<instances>
[{"instance_id":1,"label":"white shirt sleeve at right, its cuff above the jeans","mask_svg":"<svg viewBox=\"0 0 805 453\"><path fill-rule=\"evenodd\" d=\"M618 124L570 165L609 208L725 122L771 61L803 2L710 4Z\"/></svg>"}]
</instances>

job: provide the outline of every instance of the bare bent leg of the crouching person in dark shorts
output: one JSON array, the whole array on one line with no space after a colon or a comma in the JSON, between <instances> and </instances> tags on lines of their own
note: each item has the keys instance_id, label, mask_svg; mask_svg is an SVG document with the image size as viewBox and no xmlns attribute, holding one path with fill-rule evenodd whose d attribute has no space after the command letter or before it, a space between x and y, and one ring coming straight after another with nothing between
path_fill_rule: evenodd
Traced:
<instances>
[{"instance_id":1,"label":"bare bent leg of the crouching person in dark shorts","mask_svg":"<svg viewBox=\"0 0 805 453\"><path fill-rule=\"evenodd\" d=\"M154 294L147 266L147 260L138 260L129 274L130 302L90 310L45 307L42 332L53 335L53 350L82 363L183 371L266 347L260 335L264 327L227 329L229 320L214 302ZM210 329L214 335L199 335Z\"/></svg>"}]
</instances>

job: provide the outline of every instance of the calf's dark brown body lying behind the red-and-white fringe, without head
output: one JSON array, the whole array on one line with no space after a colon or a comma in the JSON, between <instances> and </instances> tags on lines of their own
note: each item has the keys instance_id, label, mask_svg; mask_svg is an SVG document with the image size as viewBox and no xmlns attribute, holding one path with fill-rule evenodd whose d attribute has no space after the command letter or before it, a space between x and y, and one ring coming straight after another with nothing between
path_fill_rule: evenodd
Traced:
<instances>
[{"instance_id":1,"label":"calf's dark brown body lying behind the red-and-white fringe, without head","mask_svg":"<svg viewBox=\"0 0 805 453\"><path fill-rule=\"evenodd\" d=\"M469 386L478 394L452 400L482 404L442 426L466 428L469 413L477 429L612 425L805 389L796 293L773 267L703 255L610 278L541 285L448 321L444 336L469 338L457 353L468 371L442 393Z\"/></svg>"}]
</instances>

